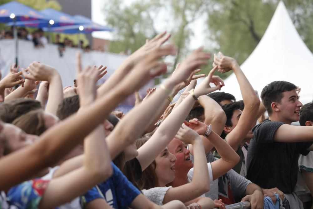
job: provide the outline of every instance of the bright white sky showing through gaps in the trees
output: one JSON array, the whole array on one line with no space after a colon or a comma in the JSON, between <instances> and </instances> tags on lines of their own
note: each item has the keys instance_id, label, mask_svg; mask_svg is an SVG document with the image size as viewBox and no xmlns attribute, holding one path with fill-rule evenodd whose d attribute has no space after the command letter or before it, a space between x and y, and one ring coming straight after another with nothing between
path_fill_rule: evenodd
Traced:
<instances>
[{"instance_id":1,"label":"bright white sky showing through gaps in the trees","mask_svg":"<svg viewBox=\"0 0 313 209\"><path fill-rule=\"evenodd\" d=\"M134 2L134 0L124 0L125 4L131 4ZM103 12L103 7L104 7L104 1L103 0L91 0L91 19L95 23L101 24L101 25L106 25L105 23L105 16ZM155 28L158 32L162 32L167 29L169 23L166 19L167 15L162 15L159 14L157 21L155 21ZM193 24L192 27L196 28L197 30L194 31L194 36L191 38L191 43L190 43L190 49L195 49L200 46L202 46L205 43L205 37L206 34L204 34L204 30L201 30L202 28L205 28L205 19L204 18L199 18L196 20ZM95 38L100 38L100 39L109 39L112 40L113 36L110 32L106 31L99 31L99 32L93 32L92 36Z\"/></svg>"}]
</instances>

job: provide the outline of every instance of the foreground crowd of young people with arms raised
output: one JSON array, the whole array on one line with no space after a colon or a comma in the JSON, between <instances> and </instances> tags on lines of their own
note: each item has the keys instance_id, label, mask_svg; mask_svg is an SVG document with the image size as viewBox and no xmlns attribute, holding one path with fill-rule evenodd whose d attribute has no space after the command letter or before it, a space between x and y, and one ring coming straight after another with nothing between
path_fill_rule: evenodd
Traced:
<instances>
[{"instance_id":1,"label":"foreground crowd of young people with arms raised","mask_svg":"<svg viewBox=\"0 0 313 209\"><path fill-rule=\"evenodd\" d=\"M198 74L211 58L202 48L141 99L137 91L166 72L162 58L176 55L169 38L147 40L100 86L106 67L81 66L80 53L64 88L44 63L11 67L0 81L1 208L303 208L295 186L301 171L313 189L313 103L302 105L287 81L266 85L260 101L221 52L208 76ZM233 71L242 101L221 91L216 71ZM136 105L116 111L134 93Z\"/></svg>"}]
</instances>

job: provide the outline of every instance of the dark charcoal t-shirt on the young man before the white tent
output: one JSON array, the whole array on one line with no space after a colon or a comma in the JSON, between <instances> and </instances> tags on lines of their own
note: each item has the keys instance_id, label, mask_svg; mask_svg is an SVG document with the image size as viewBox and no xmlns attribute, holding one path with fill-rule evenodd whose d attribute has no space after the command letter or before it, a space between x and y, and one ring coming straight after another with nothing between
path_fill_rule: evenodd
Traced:
<instances>
[{"instance_id":1,"label":"dark charcoal t-shirt on the young man before the white tent","mask_svg":"<svg viewBox=\"0 0 313 209\"><path fill-rule=\"evenodd\" d=\"M291 193L297 182L299 153L309 154L312 142L275 142L276 130L284 123L266 120L256 125L252 132L247 154L247 179L264 189L277 187Z\"/></svg>"}]
</instances>

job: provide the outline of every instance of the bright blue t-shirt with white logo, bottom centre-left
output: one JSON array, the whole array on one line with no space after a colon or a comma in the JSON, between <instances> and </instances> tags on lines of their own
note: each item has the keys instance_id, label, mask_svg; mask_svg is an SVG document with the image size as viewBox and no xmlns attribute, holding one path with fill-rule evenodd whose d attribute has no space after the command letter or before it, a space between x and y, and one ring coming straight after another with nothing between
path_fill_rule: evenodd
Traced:
<instances>
[{"instance_id":1,"label":"bright blue t-shirt with white logo, bottom centre-left","mask_svg":"<svg viewBox=\"0 0 313 209\"><path fill-rule=\"evenodd\" d=\"M86 204L97 198L105 198L105 201L113 208L127 208L131 202L141 193L126 176L111 162L113 175L105 182L93 187L84 194ZM100 190L100 193L98 190Z\"/></svg>"}]
</instances>

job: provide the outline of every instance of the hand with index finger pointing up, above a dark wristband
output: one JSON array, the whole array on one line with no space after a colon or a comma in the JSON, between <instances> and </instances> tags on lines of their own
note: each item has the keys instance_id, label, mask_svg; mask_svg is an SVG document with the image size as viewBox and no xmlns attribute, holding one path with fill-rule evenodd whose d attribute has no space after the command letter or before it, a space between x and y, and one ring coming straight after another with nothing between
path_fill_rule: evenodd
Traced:
<instances>
[{"instance_id":1,"label":"hand with index finger pointing up, above a dark wristband","mask_svg":"<svg viewBox=\"0 0 313 209\"><path fill-rule=\"evenodd\" d=\"M223 86L223 84L219 84L217 86L211 87L210 83L213 82L213 73L217 70L218 66L215 66L208 74L208 76L202 81L202 83L197 86L194 90L194 94L196 97L200 97L201 95L204 94L209 94L213 91L216 90L221 90L221 87ZM220 82L219 79L217 79L215 77L214 80L215 83Z\"/></svg>"}]
</instances>

